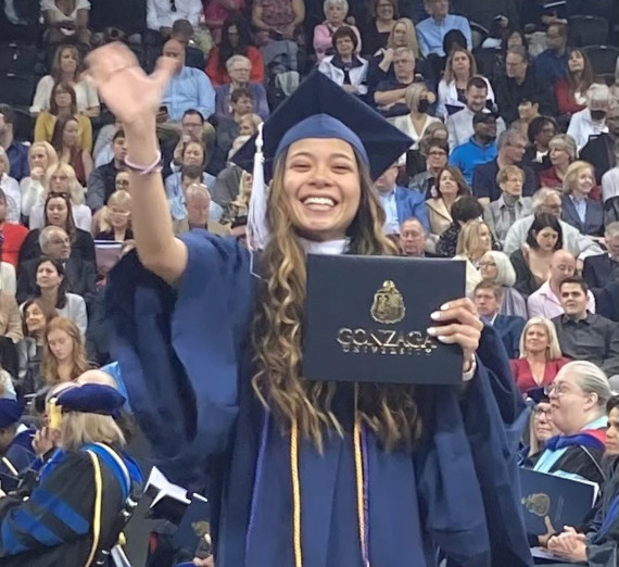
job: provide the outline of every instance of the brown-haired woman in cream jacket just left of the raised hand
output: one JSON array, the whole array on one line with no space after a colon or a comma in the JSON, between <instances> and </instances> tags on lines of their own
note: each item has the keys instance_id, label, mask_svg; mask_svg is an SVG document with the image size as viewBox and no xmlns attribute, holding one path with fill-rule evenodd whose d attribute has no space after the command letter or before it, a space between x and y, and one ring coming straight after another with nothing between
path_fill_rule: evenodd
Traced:
<instances>
[{"instance_id":1,"label":"brown-haired woman in cream jacket just left of the raised hand","mask_svg":"<svg viewBox=\"0 0 619 567\"><path fill-rule=\"evenodd\" d=\"M75 91L75 112L90 118L99 116L101 104L97 89L87 80L81 79L81 58L75 46L60 46L54 54L51 73L37 84L30 114L37 116L42 111L49 111L53 102L52 91L55 85L68 85ZM53 113L52 114L58 114Z\"/></svg>"}]
</instances>

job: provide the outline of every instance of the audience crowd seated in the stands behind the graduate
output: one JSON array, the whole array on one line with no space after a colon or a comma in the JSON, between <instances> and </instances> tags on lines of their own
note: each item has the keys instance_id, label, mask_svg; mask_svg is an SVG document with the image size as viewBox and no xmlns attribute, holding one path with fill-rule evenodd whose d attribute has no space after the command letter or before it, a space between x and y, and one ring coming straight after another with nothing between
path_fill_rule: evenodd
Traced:
<instances>
[{"instance_id":1,"label":"audience crowd seated in the stands behind the graduate","mask_svg":"<svg viewBox=\"0 0 619 567\"><path fill-rule=\"evenodd\" d=\"M22 43L47 55L20 70L37 73L27 104L0 88L4 398L31 401L113 362L105 279L132 248L131 188L123 124L81 77L88 51L121 40L148 71L160 55L176 61L157 114L175 230L241 240L252 179L235 152L317 72L413 140L375 184L384 232L403 256L466 263L466 293L534 407L522 466L597 482L594 512L617 515L606 466L619 451L612 2L41 0L40 17L17 4L0 14L0 41L21 42L0 46L0 85L15 75L2 65L27 56ZM593 38L580 16L597 23ZM547 456L584 430L599 432L590 462ZM586 562L617 543L601 526L556 526L531 544Z\"/></svg>"}]
</instances>

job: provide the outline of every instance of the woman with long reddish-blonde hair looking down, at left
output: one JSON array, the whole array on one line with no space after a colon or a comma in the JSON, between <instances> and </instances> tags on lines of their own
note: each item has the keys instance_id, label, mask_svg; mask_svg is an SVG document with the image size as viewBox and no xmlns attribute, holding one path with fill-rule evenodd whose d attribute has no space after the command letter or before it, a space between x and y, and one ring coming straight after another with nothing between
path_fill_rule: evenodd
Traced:
<instances>
[{"instance_id":1,"label":"woman with long reddish-blonde hair looking down, at left","mask_svg":"<svg viewBox=\"0 0 619 567\"><path fill-rule=\"evenodd\" d=\"M40 367L48 386L72 382L90 368L81 337L77 325L66 317L53 317L48 323Z\"/></svg>"}]
</instances>

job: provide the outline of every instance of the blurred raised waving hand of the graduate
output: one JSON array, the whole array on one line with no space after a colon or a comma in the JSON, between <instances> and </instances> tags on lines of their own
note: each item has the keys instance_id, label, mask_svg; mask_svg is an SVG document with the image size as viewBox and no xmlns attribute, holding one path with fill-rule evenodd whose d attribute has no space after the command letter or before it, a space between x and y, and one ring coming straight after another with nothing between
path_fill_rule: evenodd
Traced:
<instances>
[{"instance_id":1,"label":"blurred raised waving hand of the graduate","mask_svg":"<svg viewBox=\"0 0 619 567\"><path fill-rule=\"evenodd\" d=\"M154 73L149 76L131 50L117 42L96 49L86 63L86 79L94 85L116 118L129 126L156 116L163 90L178 68L175 60L160 58Z\"/></svg>"}]
</instances>

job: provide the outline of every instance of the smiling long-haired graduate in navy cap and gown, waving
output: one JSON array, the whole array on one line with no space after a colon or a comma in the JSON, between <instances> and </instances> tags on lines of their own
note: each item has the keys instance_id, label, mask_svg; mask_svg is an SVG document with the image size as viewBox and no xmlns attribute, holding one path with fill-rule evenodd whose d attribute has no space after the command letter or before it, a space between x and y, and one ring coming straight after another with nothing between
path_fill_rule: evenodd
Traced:
<instances>
[{"instance_id":1,"label":"smiling long-haired graduate in navy cap and gown, waving","mask_svg":"<svg viewBox=\"0 0 619 567\"><path fill-rule=\"evenodd\" d=\"M522 401L468 299L439 308L433 320L454 323L429 331L463 349L464 389L301 377L305 254L396 254L370 179L410 139L313 74L264 126L273 180L268 196L252 191L252 249L175 238L155 136L172 72L162 61L148 77L123 46L89 59L126 127L136 200L137 254L111 275L108 310L156 466L209 484L217 567L430 567L438 546L458 564L530 565L510 488Z\"/></svg>"}]
</instances>

